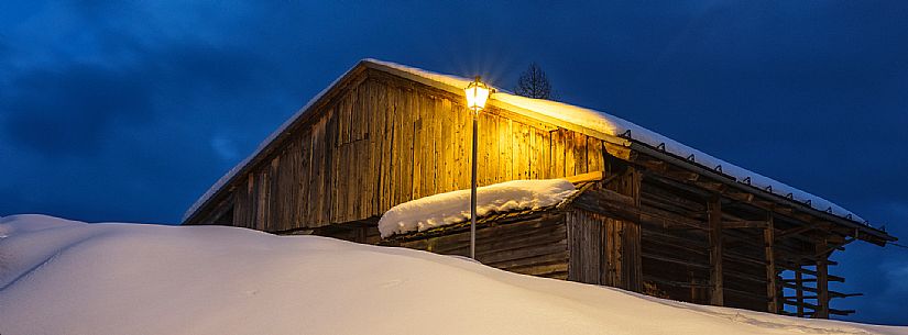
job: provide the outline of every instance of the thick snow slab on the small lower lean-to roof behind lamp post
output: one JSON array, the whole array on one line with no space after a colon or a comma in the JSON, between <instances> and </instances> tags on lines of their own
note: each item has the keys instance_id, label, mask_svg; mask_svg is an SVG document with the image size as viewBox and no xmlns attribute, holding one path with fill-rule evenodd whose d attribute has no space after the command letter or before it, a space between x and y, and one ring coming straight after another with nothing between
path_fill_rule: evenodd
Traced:
<instances>
[{"instance_id":1,"label":"thick snow slab on the small lower lean-to roof behind lamp post","mask_svg":"<svg viewBox=\"0 0 908 335\"><path fill-rule=\"evenodd\" d=\"M561 203L577 192L565 179L512 180L477 188L477 217L517 210L535 210ZM439 193L404 202L379 220L382 237L470 220L470 189Z\"/></svg>"}]
</instances>

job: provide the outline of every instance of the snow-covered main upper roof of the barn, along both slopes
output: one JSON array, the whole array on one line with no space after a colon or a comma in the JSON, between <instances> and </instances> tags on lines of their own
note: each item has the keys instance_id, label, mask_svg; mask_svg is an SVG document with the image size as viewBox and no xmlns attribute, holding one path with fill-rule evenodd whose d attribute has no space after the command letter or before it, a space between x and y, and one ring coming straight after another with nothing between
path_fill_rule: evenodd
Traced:
<instances>
[{"instance_id":1,"label":"snow-covered main upper roof of the barn, along both slopes","mask_svg":"<svg viewBox=\"0 0 908 335\"><path fill-rule=\"evenodd\" d=\"M371 58L361 60L360 65L393 72L398 76L405 76L409 79L417 80L434 87L438 87L440 89L458 94L462 94L462 88L467 87L467 85L471 81L470 79L458 76L441 75L415 67ZM353 67L353 69L358 67ZM276 138L281 133L285 132L289 125L292 125L297 119L305 114L309 110L309 108L313 104L315 104L329 89L331 89L338 81L344 78L353 69L348 70L337 80L335 80L335 82L332 82L328 88L326 88L318 96L313 98L293 118L287 120L284 124L281 125L281 127L278 127L274 133L272 133L267 138L265 138L265 141L263 141L259 145L259 147L255 149L255 152L252 153L252 155L240 161L240 164L230 169L230 171L228 171L215 185L212 185L211 188L208 189L208 191L205 192L205 194L203 194L203 197L199 198L196 201L196 203L189 208L189 210L183 217L184 221L187 220L193 213L195 213L203 204L205 204L220 188L222 188L228 181L230 181L245 165L248 165L252 159L254 159L254 157L256 157L272 141L274 141L274 138ZM591 132L589 133L592 136L604 136L612 138L624 136L632 138L635 142L647 144L653 147L659 147L660 149L664 148L665 153L674 154L680 157L691 157L692 160L699 165L713 169L719 168L721 169L721 174L726 175L730 178L734 178L737 182L742 185L747 185L758 190L770 192L780 197L787 197L794 201L801 202L816 210L824 211L846 220L867 224L867 222L857 214L829 200L799 190L795 187L788 186L784 182L774 180L772 178L765 177L763 175L756 174L745 168L739 167L725 160L719 159L696 148L683 145L671 138L663 136L656 132L653 132L650 130L647 130L645 127L642 127L624 119L611 115L605 112L551 100L521 97L508 93L505 90L497 90L497 92L492 96L489 103L492 105L502 107L514 112L526 113L528 114L528 116L535 119L549 119L570 123L582 129L590 130Z\"/></svg>"}]
</instances>

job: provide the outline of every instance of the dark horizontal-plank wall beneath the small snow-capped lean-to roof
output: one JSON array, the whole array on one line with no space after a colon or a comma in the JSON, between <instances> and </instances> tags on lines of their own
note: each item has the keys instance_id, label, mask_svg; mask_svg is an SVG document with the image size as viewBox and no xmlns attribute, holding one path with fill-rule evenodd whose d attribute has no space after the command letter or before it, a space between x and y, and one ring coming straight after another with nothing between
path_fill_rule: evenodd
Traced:
<instances>
[{"instance_id":1,"label":"dark horizontal-plank wall beneath the small snow-capped lean-to roof","mask_svg":"<svg viewBox=\"0 0 908 335\"><path fill-rule=\"evenodd\" d=\"M567 279L567 234L564 213L483 225L477 230L477 259L512 272ZM383 244L469 257L470 231Z\"/></svg>"}]
</instances>

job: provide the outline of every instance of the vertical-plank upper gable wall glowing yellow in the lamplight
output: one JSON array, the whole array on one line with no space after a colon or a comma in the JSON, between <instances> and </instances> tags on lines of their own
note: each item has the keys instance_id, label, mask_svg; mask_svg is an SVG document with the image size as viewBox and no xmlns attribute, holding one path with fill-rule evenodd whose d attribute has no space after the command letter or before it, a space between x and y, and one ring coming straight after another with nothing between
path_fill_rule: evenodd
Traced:
<instances>
[{"instance_id":1,"label":"vertical-plank upper gable wall glowing yellow in the lamplight","mask_svg":"<svg viewBox=\"0 0 908 335\"><path fill-rule=\"evenodd\" d=\"M231 186L233 225L321 227L469 188L472 125L461 98L375 70L362 76L238 178ZM483 111L479 131L480 186L603 166L600 139L506 110ZM201 223L216 220L209 215Z\"/></svg>"}]
</instances>

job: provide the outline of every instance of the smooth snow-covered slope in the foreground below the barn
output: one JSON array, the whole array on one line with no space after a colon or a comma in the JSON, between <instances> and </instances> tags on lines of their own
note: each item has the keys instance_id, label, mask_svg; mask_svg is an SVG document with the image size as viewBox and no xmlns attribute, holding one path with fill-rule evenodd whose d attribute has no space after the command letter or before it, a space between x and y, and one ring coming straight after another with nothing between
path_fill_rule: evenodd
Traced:
<instances>
[{"instance_id":1,"label":"smooth snow-covered slope in the foreground below the barn","mask_svg":"<svg viewBox=\"0 0 908 335\"><path fill-rule=\"evenodd\" d=\"M0 334L908 334L214 226L0 219Z\"/></svg>"}]
</instances>

